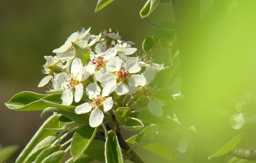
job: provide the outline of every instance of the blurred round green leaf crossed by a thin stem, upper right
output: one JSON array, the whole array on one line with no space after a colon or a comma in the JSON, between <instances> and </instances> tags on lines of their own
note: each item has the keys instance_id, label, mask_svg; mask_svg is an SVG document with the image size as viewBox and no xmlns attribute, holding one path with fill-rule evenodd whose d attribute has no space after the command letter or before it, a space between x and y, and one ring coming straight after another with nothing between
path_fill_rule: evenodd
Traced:
<instances>
[{"instance_id":1,"label":"blurred round green leaf crossed by a thin stem, upper right","mask_svg":"<svg viewBox=\"0 0 256 163\"><path fill-rule=\"evenodd\" d=\"M157 24L157 26L165 27L165 28L170 29L170 30L161 30L161 29L155 28L154 32L153 32L154 33L153 36L155 36L157 38L167 37L169 41L173 41L175 39L176 25L175 25L174 20L167 19L167 20L160 21Z\"/></svg>"}]
</instances>

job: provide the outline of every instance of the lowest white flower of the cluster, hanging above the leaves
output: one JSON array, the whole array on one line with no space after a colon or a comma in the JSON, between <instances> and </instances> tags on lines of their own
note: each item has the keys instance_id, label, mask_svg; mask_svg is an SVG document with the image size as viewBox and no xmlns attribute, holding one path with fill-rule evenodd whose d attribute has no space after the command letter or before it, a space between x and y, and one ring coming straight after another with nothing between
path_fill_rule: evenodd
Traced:
<instances>
[{"instance_id":1,"label":"lowest white flower of the cluster, hanging above the leaves","mask_svg":"<svg viewBox=\"0 0 256 163\"><path fill-rule=\"evenodd\" d=\"M103 119L104 114L102 111L107 112L113 107L113 99L112 97L104 97L100 94L101 89L96 83L91 83L86 88L86 94L89 96L91 101L89 103L83 103L76 107L76 114L84 114L91 111L91 115L89 118L89 124L91 127L99 126Z\"/></svg>"}]
</instances>

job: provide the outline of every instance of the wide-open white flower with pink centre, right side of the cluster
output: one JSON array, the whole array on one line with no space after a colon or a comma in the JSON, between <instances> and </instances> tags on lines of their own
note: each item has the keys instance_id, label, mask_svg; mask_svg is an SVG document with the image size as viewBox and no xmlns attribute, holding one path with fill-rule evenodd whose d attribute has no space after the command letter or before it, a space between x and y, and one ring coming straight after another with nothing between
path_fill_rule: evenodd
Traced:
<instances>
[{"instance_id":1,"label":"wide-open white flower with pink centre, right side of the cluster","mask_svg":"<svg viewBox=\"0 0 256 163\"><path fill-rule=\"evenodd\" d=\"M107 73L101 76L100 82L103 87L103 95L108 96L113 91L118 95L127 94L131 87L144 86L146 84L146 78L143 75L132 75L139 72L141 67L138 65L137 57L132 57L125 63L125 68L121 67L118 60L119 57L110 60L110 70L118 70L117 72ZM106 65L107 66L107 65Z\"/></svg>"}]
</instances>

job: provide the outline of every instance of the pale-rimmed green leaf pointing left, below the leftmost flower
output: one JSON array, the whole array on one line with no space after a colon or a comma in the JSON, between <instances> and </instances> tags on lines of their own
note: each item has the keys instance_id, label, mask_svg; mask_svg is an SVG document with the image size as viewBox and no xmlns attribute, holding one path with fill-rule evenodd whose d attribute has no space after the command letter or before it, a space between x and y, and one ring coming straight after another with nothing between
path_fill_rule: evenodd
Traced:
<instances>
[{"instance_id":1,"label":"pale-rimmed green leaf pointing left, below the leftmost flower","mask_svg":"<svg viewBox=\"0 0 256 163\"><path fill-rule=\"evenodd\" d=\"M36 94L34 92L21 92L11 98L5 105L16 111L35 111L43 110L49 107L48 104L40 101L41 98L46 97L44 94Z\"/></svg>"}]
</instances>

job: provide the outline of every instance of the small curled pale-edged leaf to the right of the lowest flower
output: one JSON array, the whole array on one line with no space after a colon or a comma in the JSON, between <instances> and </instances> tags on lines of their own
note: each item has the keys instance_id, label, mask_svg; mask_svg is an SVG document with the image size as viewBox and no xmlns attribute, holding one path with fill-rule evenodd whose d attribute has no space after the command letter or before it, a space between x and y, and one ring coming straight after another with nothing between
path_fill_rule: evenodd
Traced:
<instances>
[{"instance_id":1,"label":"small curled pale-edged leaf to the right of the lowest flower","mask_svg":"<svg viewBox=\"0 0 256 163\"><path fill-rule=\"evenodd\" d=\"M120 127L128 131L136 131L142 129L144 124L137 118L127 117Z\"/></svg>"}]
</instances>

